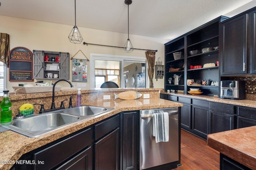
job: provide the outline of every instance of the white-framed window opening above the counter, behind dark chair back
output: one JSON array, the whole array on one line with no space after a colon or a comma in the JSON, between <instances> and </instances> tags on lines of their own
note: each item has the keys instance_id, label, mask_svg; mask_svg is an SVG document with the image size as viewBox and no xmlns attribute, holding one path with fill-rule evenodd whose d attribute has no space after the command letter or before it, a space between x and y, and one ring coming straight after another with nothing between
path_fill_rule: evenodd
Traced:
<instances>
[{"instance_id":1,"label":"white-framed window opening above the counter, behind dark chair back","mask_svg":"<svg viewBox=\"0 0 256 170\"><path fill-rule=\"evenodd\" d=\"M113 81L120 88L147 88L146 57L90 54L90 87ZM134 80L134 81L132 81Z\"/></svg>"}]
</instances>

